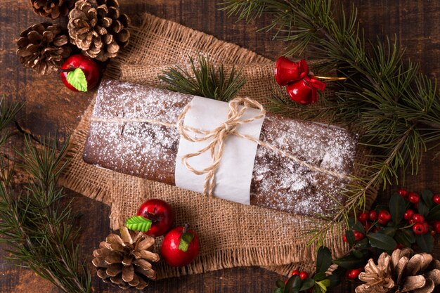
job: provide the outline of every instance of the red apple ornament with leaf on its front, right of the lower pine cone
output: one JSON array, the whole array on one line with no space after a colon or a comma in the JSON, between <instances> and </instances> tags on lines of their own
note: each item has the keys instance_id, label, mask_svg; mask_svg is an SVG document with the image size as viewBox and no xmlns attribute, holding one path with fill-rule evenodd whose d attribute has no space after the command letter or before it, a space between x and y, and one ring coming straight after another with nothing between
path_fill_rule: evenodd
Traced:
<instances>
[{"instance_id":1,"label":"red apple ornament with leaf on its front, right of the lower pine cone","mask_svg":"<svg viewBox=\"0 0 440 293\"><path fill-rule=\"evenodd\" d=\"M200 249L198 235L189 225L176 227L164 237L160 253L169 266L186 266L195 259Z\"/></svg>"}]
</instances>

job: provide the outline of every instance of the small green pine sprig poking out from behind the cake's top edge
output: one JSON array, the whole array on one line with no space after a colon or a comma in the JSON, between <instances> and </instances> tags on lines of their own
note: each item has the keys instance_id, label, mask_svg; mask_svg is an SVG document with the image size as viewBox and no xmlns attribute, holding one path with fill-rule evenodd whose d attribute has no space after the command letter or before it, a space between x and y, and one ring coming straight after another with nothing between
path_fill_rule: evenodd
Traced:
<instances>
[{"instance_id":1,"label":"small green pine sprig poking out from behind the cake's top edge","mask_svg":"<svg viewBox=\"0 0 440 293\"><path fill-rule=\"evenodd\" d=\"M212 98L214 100L231 100L245 84L241 77L241 70L236 71L232 67L228 77L223 65L216 68L209 58L199 54L198 66L192 57L189 57L190 72L181 67L172 67L159 76L167 83L170 91L179 91L194 96Z\"/></svg>"}]
</instances>

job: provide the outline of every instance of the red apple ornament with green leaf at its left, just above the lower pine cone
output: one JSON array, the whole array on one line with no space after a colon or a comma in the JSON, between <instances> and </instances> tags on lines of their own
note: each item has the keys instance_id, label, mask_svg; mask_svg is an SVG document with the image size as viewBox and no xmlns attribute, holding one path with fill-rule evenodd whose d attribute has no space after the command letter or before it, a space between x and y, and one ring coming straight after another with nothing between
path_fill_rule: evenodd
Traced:
<instances>
[{"instance_id":1,"label":"red apple ornament with green leaf at its left, just above the lower pine cone","mask_svg":"<svg viewBox=\"0 0 440 293\"><path fill-rule=\"evenodd\" d=\"M127 220L127 228L157 237L167 233L173 223L174 211L171 206L163 200L152 199L141 204L136 216Z\"/></svg>"}]
</instances>

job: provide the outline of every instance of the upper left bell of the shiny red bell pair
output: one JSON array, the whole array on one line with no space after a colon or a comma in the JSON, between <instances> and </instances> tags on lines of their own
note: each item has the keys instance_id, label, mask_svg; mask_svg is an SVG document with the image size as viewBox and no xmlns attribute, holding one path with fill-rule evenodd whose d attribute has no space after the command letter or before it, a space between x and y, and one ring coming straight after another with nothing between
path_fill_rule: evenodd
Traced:
<instances>
[{"instance_id":1,"label":"upper left bell of the shiny red bell pair","mask_svg":"<svg viewBox=\"0 0 440 293\"><path fill-rule=\"evenodd\" d=\"M291 82L303 79L309 74L309 66L306 60L293 62L285 57L280 57L275 65L275 79L280 86L286 86Z\"/></svg>"}]
</instances>

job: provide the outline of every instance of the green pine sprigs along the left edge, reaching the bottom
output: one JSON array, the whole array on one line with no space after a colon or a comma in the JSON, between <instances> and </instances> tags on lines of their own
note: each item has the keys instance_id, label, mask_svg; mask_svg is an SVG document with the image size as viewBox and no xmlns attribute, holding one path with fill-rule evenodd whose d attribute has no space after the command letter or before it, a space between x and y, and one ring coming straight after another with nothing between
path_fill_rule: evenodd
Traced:
<instances>
[{"instance_id":1,"label":"green pine sprigs along the left edge, reaching the bottom","mask_svg":"<svg viewBox=\"0 0 440 293\"><path fill-rule=\"evenodd\" d=\"M18 110L0 103L1 142L4 131ZM53 143L51 143L53 141ZM42 145L32 145L25 137L25 152L18 152L20 168L30 175L25 186L12 182L13 169L6 159L1 162L0 175L0 242L6 243L8 260L30 268L64 292L91 292L91 275L86 263L79 261L74 228L75 215L70 202L63 204L65 194L56 186L65 160L67 143L60 151L55 140L44 139Z\"/></svg>"}]
</instances>

